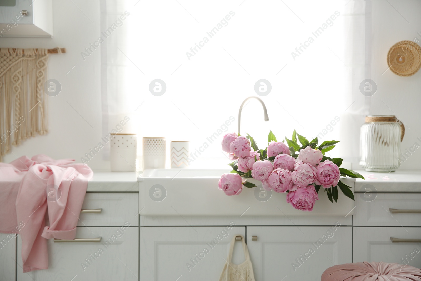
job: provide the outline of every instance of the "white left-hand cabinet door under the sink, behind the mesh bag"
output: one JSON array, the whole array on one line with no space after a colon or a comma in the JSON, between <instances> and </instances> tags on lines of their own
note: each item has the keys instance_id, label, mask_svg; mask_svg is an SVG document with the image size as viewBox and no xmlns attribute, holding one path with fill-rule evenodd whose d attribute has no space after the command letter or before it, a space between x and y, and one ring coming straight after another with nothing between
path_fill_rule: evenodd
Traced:
<instances>
[{"instance_id":1,"label":"white left-hand cabinet door under the sink, behind the mesh bag","mask_svg":"<svg viewBox=\"0 0 421 281\"><path fill-rule=\"evenodd\" d=\"M237 234L245 227L140 227L140 280L218 280ZM243 261L237 242L232 262Z\"/></svg>"}]
</instances>

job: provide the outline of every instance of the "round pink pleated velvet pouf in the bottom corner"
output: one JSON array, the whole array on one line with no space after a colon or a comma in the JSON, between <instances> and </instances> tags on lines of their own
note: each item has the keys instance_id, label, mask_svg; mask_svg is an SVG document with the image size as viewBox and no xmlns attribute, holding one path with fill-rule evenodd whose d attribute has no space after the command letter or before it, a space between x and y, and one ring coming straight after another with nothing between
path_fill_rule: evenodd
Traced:
<instances>
[{"instance_id":1,"label":"round pink pleated velvet pouf in the bottom corner","mask_svg":"<svg viewBox=\"0 0 421 281\"><path fill-rule=\"evenodd\" d=\"M322 281L421 281L421 269L396 262L354 262L326 269Z\"/></svg>"}]
</instances>

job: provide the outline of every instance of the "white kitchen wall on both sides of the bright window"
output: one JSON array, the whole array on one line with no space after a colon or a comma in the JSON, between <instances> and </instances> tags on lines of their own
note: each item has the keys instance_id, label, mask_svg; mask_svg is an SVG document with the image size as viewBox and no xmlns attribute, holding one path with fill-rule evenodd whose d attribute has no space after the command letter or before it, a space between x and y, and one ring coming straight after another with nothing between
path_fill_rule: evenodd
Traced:
<instances>
[{"instance_id":1,"label":"white kitchen wall on both sides of the bright window","mask_svg":"<svg viewBox=\"0 0 421 281\"><path fill-rule=\"evenodd\" d=\"M68 0L53 1L54 37L51 39L0 39L1 48L67 48L66 54L53 54L49 60L48 78L59 80L62 86L58 96L48 97L50 133L13 147L14 155L6 155L4 162L13 161L15 155L39 153L57 159L75 158L80 162L80 158L101 139L100 51L97 49L85 61L80 55L100 32L99 1L73 0L73 3ZM421 2L417 0L373 0L371 78L376 81L378 91L370 98L370 113L396 114L406 124L402 150L410 148L414 142L421 145L416 139L421 139L421 72L411 77L399 77L390 70L383 72L388 67L387 51L394 43L413 40L414 37L421 39L421 35L417 34L421 33L420 11ZM69 72L75 64L76 67ZM401 169L421 169L420 150L416 150ZM88 164L97 171L109 169L109 163L102 160L101 152Z\"/></svg>"}]
</instances>

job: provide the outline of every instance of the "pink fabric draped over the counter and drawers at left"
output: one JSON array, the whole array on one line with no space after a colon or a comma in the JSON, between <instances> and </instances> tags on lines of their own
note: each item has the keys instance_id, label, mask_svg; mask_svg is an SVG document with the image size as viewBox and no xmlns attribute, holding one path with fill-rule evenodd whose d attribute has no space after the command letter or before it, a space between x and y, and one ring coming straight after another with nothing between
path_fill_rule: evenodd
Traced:
<instances>
[{"instance_id":1,"label":"pink fabric draped over the counter and drawers at left","mask_svg":"<svg viewBox=\"0 0 421 281\"><path fill-rule=\"evenodd\" d=\"M0 163L0 232L18 233L23 271L47 269L47 240L74 239L92 170L74 159L22 156ZM50 226L45 226L48 209Z\"/></svg>"}]
</instances>

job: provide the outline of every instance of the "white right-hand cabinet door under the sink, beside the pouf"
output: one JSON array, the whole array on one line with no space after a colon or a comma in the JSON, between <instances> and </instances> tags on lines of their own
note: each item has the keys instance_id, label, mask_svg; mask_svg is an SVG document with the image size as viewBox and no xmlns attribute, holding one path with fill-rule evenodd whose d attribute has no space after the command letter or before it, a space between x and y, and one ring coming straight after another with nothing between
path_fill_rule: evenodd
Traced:
<instances>
[{"instance_id":1,"label":"white right-hand cabinet door under the sink, beside the pouf","mask_svg":"<svg viewBox=\"0 0 421 281\"><path fill-rule=\"evenodd\" d=\"M253 226L247 227L247 246L256 281L320 281L327 268L352 261L352 230L345 226Z\"/></svg>"}]
</instances>

